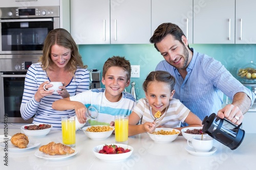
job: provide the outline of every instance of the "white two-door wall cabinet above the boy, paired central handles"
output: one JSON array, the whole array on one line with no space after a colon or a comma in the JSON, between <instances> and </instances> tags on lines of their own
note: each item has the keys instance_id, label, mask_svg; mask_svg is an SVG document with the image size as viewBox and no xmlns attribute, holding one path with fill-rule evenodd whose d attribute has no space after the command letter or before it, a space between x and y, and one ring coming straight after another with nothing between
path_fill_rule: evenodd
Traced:
<instances>
[{"instance_id":1,"label":"white two-door wall cabinet above the boy, paired central handles","mask_svg":"<svg viewBox=\"0 0 256 170\"><path fill-rule=\"evenodd\" d=\"M151 0L72 0L77 44L142 44L151 37Z\"/></svg>"}]
</instances>

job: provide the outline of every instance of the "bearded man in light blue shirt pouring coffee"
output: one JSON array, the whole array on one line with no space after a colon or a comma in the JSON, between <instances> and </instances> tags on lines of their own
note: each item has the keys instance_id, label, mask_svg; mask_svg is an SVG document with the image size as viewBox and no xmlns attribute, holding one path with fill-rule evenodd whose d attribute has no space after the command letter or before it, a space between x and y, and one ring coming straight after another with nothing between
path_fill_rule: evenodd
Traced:
<instances>
[{"instance_id":1,"label":"bearded man in light blue shirt pouring coffee","mask_svg":"<svg viewBox=\"0 0 256 170\"><path fill-rule=\"evenodd\" d=\"M219 61L189 48L184 33L173 23L162 23L150 42L165 59L156 70L168 71L176 79L174 98L202 120L217 112L234 124L242 123L255 96ZM232 99L224 108L223 93Z\"/></svg>"}]
</instances>

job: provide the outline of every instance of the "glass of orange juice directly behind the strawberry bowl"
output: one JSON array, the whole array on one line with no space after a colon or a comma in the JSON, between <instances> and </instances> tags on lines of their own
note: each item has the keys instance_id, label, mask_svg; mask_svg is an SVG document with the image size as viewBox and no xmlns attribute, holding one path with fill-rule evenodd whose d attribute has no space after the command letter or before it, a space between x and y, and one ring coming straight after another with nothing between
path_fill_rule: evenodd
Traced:
<instances>
[{"instance_id":1,"label":"glass of orange juice directly behind the strawberry bowl","mask_svg":"<svg viewBox=\"0 0 256 170\"><path fill-rule=\"evenodd\" d=\"M128 143L128 116L115 116L115 138L116 143Z\"/></svg>"}]
</instances>

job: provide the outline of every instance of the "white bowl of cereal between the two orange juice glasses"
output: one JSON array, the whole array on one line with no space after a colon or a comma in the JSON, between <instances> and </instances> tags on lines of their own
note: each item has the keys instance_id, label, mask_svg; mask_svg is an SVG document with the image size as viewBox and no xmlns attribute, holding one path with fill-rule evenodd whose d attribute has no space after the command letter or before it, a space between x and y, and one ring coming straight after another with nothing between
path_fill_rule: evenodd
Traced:
<instances>
[{"instance_id":1,"label":"white bowl of cereal between the two orange juice glasses","mask_svg":"<svg viewBox=\"0 0 256 170\"><path fill-rule=\"evenodd\" d=\"M115 130L112 126L97 125L97 126L87 126L80 129L93 140L103 140L108 138Z\"/></svg>"}]
</instances>

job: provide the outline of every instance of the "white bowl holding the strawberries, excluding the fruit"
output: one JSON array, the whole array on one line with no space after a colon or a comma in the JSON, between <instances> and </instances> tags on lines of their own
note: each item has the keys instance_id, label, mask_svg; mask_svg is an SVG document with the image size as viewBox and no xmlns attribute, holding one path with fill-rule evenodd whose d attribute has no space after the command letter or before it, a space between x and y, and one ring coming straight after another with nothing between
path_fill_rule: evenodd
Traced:
<instances>
[{"instance_id":1,"label":"white bowl holding the strawberries, excluding the fruit","mask_svg":"<svg viewBox=\"0 0 256 170\"><path fill-rule=\"evenodd\" d=\"M122 154L100 154L99 150L103 148L105 144L98 145L97 147L93 148L93 153L94 155L103 161L106 162L119 162L122 160L125 160L126 158L129 158L132 153L133 153L133 147L127 144L119 144L119 143L111 143L111 144L116 144L117 147L122 147L123 149L130 149L130 152L122 153ZM107 144L109 145L109 144Z\"/></svg>"}]
</instances>

